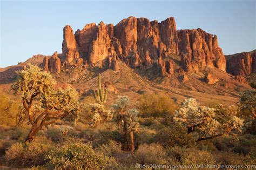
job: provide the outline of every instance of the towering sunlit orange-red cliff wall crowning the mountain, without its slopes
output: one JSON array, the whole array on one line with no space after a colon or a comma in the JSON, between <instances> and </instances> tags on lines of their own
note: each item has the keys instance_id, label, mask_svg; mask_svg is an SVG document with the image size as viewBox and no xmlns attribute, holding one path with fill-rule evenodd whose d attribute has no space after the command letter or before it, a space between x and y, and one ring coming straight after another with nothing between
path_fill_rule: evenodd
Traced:
<instances>
[{"instance_id":1,"label":"towering sunlit orange-red cliff wall crowning the mountain, without its slopes","mask_svg":"<svg viewBox=\"0 0 256 170\"><path fill-rule=\"evenodd\" d=\"M66 63L75 58L83 58L90 65L115 58L133 68L148 68L158 63L163 75L175 72L174 62L179 62L180 69L187 72L204 70L206 66L225 71L226 67L217 36L201 29L177 31L173 17L160 23L136 17L123 19L116 26L91 23L75 35L66 25L63 38ZM180 59L170 57L173 54Z\"/></svg>"}]
</instances>

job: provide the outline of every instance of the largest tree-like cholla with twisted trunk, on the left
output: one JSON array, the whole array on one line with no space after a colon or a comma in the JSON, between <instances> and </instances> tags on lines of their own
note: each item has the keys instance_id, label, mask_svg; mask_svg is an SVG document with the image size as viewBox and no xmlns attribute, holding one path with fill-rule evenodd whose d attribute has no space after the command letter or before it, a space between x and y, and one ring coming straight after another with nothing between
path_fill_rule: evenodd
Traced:
<instances>
[{"instance_id":1,"label":"largest tree-like cholla with twisted trunk, on the left","mask_svg":"<svg viewBox=\"0 0 256 170\"><path fill-rule=\"evenodd\" d=\"M32 125L25 141L31 142L43 126L55 123L78 109L77 92L71 87L55 90L56 81L51 74L29 64L17 72L12 89L22 92L22 104Z\"/></svg>"}]
</instances>

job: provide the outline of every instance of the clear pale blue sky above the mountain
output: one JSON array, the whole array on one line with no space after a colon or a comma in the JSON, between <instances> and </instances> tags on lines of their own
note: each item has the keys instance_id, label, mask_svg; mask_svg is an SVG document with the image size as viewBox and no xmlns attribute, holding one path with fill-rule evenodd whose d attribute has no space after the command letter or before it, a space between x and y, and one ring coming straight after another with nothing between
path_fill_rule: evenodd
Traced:
<instances>
[{"instance_id":1,"label":"clear pale blue sky above the mountain","mask_svg":"<svg viewBox=\"0 0 256 170\"><path fill-rule=\"evenodd\" d=\"M117 24L129 16L159 22L174 17L178 30L201 28L217 35L225 55L252 51L256 49L255 2L1 1L0 67L35 54L61 53L66 24L76 31L87 23Z\"/></svg>"}]
</instances>

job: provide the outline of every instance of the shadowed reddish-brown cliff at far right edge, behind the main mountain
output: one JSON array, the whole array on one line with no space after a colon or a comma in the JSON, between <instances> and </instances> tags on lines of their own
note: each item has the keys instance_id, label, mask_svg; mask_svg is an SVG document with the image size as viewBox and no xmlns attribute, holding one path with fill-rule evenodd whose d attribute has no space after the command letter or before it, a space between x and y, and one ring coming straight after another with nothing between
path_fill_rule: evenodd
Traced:
<instances>
[{"instance_id":1,"label":"shadowed reddish-brown cliff at far right edge, behind the main mountain","mask_svg":"<svg viewBox=\"0 0 256 170\"><path fill-rule=\"evenodd\" d=\"M226 56L227 72L234 76L249 76L256 73L256 50Z\"/></svg>"}]
</instances>

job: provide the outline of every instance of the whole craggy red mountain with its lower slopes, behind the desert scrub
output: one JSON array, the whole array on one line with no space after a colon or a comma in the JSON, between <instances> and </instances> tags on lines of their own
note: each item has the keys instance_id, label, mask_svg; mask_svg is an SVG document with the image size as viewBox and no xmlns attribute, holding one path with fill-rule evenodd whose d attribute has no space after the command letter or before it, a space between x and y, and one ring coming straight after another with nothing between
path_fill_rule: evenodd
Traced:
<instances>
[{"instance_id":1,"label":"whole craggy red mountain with its lower slopes, behind the desert scrub","mask_svg":"<svg viewBox=\"0 0 256 170\"><path fill-rule=\"evenodd\" d=\"M129 17L115 26L86 24L75 33L66 25L62 53L0 69L0 90L6 92L15 71L28 62L52 72L59 85L75 87L81 99L92 95L102 73L112 93L109 101L118 94L137 100L144 93L163 92L178 103L193 97L203 104L235 104L238 92L251 88L247 81L255 73L255 50L224 56L217 36L176 30L173 17L162 22Z\"/></svg>"}]
</instances>

